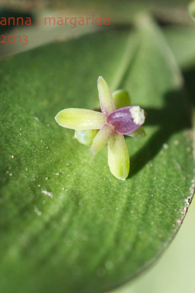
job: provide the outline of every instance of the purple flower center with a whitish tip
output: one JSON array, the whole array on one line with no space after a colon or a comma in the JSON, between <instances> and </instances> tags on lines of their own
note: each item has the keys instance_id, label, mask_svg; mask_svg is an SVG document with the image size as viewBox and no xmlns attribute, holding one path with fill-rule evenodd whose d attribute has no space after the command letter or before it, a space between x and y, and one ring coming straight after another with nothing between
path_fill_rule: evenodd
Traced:
<instances>
[{"instance_id":1,"label":"purple flower center with a whitish tip","mask_svg":"<svg viewBox=\"0 0 195 293\"><path fill-rule=\"evenodd\" d=\"M107 123L114 126L120 134L128 134L140 128L145 121L144 110L139 106L130 106L113 111L107 116Z\"/></svg>"}]
</instances>

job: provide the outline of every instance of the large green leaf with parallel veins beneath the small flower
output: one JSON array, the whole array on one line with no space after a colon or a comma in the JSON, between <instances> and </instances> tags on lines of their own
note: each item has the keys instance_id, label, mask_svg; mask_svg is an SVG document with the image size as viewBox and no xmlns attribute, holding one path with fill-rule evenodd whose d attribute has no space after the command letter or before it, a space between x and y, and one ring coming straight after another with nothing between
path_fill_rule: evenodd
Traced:
<instances>
[{"instance_id":1,"label":"large green leaf with parallel veins beneath the small flower","mask_svg":"<svg viewBox=\"0 0 195 293\"><path fill-rule=\"evenodd\" d=\"M96 293L131 279L167 247L193 195L186 98L161 31L142 17L137 38L99 32L0 64L1 291ZM106 147L90 157L54 120L99 107L99 75L148 114L147 136L126 139L124 182Z\"/></svg>"}]
</instances>

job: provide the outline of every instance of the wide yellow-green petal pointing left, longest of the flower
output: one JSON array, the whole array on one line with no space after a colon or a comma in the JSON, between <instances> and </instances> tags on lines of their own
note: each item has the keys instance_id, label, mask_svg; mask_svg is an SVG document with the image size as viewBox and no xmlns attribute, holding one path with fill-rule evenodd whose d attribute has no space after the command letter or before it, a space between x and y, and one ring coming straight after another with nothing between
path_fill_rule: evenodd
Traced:
<instances>
[{"instance_id":1,"label":"wide yellow-green petal pointing left, longest of the flower","mask_svg":"<svg viewBox=\"0 0 195 293\"><path fill-rule=\"evenodd\" d=\"M102 113L77 108L60 111L55 120L60 126L78 130L100 129L106 123L106 117Z\"/></svg>"}]
</instances>

